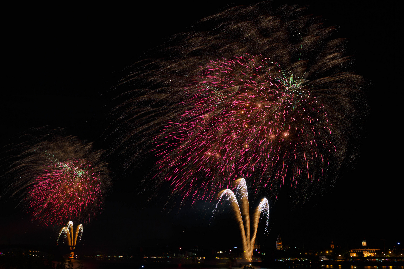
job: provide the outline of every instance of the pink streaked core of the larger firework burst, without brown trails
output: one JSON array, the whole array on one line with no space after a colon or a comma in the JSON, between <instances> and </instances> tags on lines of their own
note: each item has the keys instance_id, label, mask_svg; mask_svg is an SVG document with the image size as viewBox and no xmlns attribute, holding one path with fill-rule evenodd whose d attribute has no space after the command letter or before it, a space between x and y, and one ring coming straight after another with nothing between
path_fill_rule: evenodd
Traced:
<instances>
[{"instance_id":1,"label":"pink streaked core of the larger firework burst, without brown trails","mask_svg":"<svg viewBox=\"0 0 404 269\"><path fill-rule=\"evenodd\" d=\"M194 201L238 177L255 178L257 188L319 180L337 149L325 107L305 84L261 55L202 67L186 89L189 109L156 142L164 180Z\"/></svg>"}]
</instances>

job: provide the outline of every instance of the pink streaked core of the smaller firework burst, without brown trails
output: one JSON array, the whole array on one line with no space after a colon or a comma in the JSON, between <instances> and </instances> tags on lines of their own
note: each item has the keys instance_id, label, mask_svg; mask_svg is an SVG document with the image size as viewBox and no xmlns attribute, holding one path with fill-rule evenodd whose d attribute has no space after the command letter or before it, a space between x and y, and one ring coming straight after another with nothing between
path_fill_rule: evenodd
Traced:
<instances>
[{"instance_id":1,"label":"pink streaked core of the smaller firework burst, without brown trails","mask_svg":"<svg viewBox=\"0 0 404 269\"><path fill-rule=\"evenodd\" d=\"M45 225L89 221L103 200L97 167L84 159L54 163L34 179L28 194L33 219Z\"/></svg>"}]
</instances>

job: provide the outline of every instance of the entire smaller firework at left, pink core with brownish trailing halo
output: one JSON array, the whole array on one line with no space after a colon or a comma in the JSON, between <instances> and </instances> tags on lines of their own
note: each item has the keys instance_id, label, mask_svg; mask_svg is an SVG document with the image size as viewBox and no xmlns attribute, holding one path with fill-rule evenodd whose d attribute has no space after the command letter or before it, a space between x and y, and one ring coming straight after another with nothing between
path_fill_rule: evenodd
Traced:
<instances>
[{"instance_id":1,"label":"entire smaller firework at left, pink core with brownish trailing halo","mask_svg":"<svg viewBox=\"0 0 404 269\"><path fill-rule=\"evenodd\" d=\"M32 129L8 146L2 198L13 198L42 225L88 223L103 208L110 185L102 152L61 130ZM47 133L43 135L43 133ZM11 157L9 157L11 156Z\"/></svg>"}]
</instances>

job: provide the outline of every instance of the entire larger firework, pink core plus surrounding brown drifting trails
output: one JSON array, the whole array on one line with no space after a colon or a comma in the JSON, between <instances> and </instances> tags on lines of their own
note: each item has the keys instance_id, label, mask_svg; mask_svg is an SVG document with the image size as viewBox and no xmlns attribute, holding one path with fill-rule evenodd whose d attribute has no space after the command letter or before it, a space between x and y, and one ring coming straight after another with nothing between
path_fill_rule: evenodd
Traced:
<instances>
[{"instance_id":1,"label":"entire larger firework, pink core plus surrounding brown drifting trails","mask_svg":"<svg viewBox=\"0 0 404 269\"><path fill-rule=\"evenodd\" d=\"M289 185L293 204L324 192L356 163L367 114L367 85L334 30L268 2L201 20L113 89L112 156L125 173L156 161L156 186L191 202L246 176L268 198Z\"/></svg>"}]
</instances>

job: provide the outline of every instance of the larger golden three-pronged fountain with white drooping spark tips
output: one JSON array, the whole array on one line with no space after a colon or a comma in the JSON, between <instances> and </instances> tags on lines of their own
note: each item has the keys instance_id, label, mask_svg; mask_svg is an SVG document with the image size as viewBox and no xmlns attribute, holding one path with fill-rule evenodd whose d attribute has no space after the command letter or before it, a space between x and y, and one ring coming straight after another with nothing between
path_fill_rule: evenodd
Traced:
<instances>
[{"instance_id":1,"label":"larger golden three-pronged fountain with white drooping spark tips","mask_svg":"<svg viewBox=\"0 0 404 269\"><path fill-rule=\"evenodd\" d=\"M236 214L236 219L238 226L240 228L240 235L243 245L243 259L246 261L252 261L252 254L254 252L255 238L257 237L258 223L261 214L266 216L265 230L268 228L269 223L269 204L267 198L263 198L259 203L254 215L252 215L252 234L250 229L250 209L248 204L248 192L247 184L244 178L237 180L236 194L240 195L240 205L237 201L236 195L230 189L223 190L221 192L219 201L216 204L215 214L217 206L222 199L227 199L227 203L231 204L234 213Z\"/></svg>"}]
</instances>

